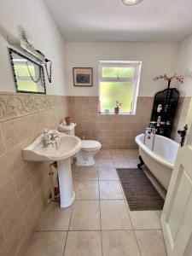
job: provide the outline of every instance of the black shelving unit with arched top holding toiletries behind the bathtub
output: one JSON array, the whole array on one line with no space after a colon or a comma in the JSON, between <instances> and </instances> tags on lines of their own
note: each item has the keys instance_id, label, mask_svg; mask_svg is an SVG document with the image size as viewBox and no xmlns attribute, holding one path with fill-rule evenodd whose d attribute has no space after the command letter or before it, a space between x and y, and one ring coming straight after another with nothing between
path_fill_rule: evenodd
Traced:
<instances>
[{"instance_id":1,"label":"black shelving unit with arched top holding toiletries behind the bathtub","mask_svg":"<svg viewBox=\"0 0 192 256\"><path fill-rule=\"evenodd\" d=\"M168 88L155 94L151 121L157 122L160 116L161 124L157 126L157 134L171 137L179 95L176 88ZM158 106L160 105L162 105L162 109L158 112Z\"/></svg>"}]
</instances>

